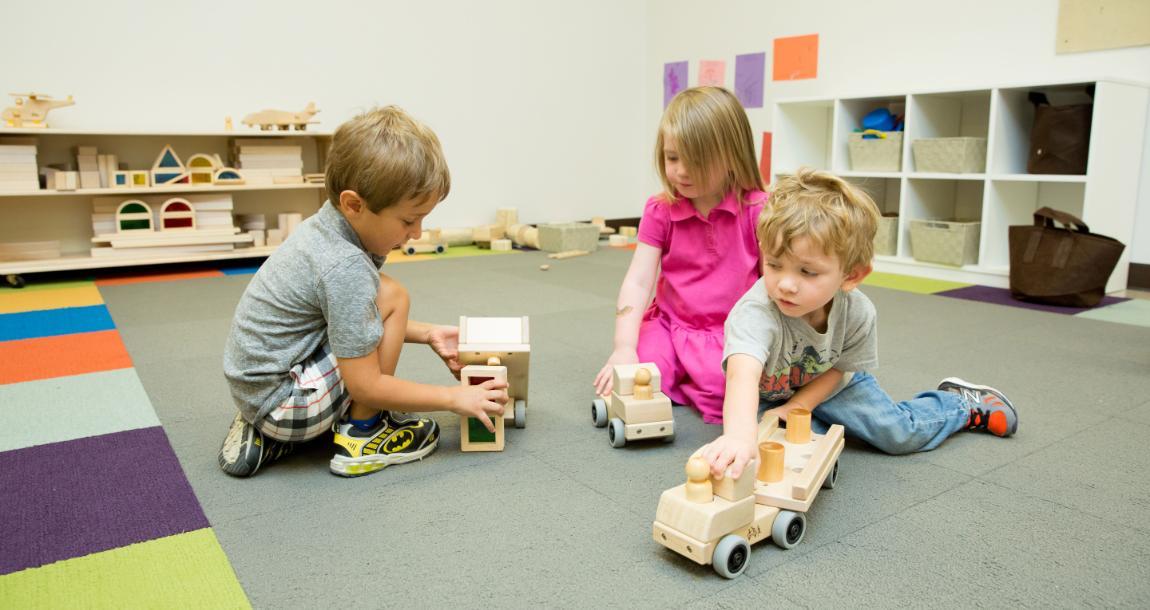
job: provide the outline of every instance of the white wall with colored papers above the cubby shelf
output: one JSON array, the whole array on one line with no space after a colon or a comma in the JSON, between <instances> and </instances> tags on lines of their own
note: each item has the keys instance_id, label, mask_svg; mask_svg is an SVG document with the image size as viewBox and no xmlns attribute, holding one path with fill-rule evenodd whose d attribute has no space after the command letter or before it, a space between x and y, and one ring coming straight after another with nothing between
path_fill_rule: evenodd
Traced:
<instances>
[{"instance_id":1,"label":"white wall with colored papers above the cubby shelf","mask_svg":"<svg viewBox=\"0 0 1150 610\"><path fill-rule=\"evenodd\" d=\"M662 108L662 66L767 53L764 108L749 109L756 132L772 131L775 100L933 89L1120 78L1150 83L1150 47L1055 54L1057 0L649 0L646 129ZM819 35L819 76L773 82L773 41ZM1150 138L1142 163L1134 262L1150 264ZM758 143L757 143L758 144ZM654 190L654 180L646 182Z\"/></svg>"}]
</instances>

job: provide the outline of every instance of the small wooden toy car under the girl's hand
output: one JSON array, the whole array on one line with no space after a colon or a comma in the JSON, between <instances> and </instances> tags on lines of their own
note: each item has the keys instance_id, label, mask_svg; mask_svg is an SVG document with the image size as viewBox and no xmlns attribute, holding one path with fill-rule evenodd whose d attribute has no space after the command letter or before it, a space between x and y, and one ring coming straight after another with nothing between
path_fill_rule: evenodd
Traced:
<instances>
[{"instance_id":1,"label":"small wooden toy car under the girl's hand","mask_svg":"<svg viewBox=\"0 0 1150 610\"><path fill-rule=\"evenodd\" d=\"M659 367L654 363L616 365L611 375L611 396L591 401L591 421L597 428L607 427L611 447L641 439L674 441L675 419L670 398L659 391Z\"/></svg>"}]
</instances>

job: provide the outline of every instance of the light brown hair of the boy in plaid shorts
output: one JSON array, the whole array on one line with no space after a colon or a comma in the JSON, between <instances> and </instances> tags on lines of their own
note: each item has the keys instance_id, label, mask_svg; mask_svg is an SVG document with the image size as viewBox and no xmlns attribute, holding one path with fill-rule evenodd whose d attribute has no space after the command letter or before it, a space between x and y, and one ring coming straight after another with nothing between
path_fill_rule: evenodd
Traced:
<instances>
[{"instance_id":1,"label":"light brown hair of the boy in plaid shorts","mask_svg":"<svg viewBox=\"0 0 1150 610\"><path fill-rule=\"evenodd\" d=\"M451 191L451 173L439 138L398 106L374 108L339 125L328 152L328 198L355 191L378 213L405 199Z\"/></svg>"}]
</instances>

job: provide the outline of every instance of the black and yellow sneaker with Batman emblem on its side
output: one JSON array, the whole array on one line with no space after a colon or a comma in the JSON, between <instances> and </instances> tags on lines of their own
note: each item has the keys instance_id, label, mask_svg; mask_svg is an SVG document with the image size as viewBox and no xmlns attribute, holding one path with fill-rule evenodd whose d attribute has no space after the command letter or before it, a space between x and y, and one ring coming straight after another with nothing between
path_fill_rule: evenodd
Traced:
<instances>
[{"instance_id":1,"label":"black and yellow sneaker with Batman emblem on its side","mask_svg":"<svg viewBox=\"0 0 1150 610\"><path fill-rule=\"evenodd\" d=\"M362 476L392 464L423 459L439 447L439 425L431 419L384 411L379 424L370 430L361 430L346 421L339 424L336 447L331 472L340 476Z\"/></svg>"}]
</instances>

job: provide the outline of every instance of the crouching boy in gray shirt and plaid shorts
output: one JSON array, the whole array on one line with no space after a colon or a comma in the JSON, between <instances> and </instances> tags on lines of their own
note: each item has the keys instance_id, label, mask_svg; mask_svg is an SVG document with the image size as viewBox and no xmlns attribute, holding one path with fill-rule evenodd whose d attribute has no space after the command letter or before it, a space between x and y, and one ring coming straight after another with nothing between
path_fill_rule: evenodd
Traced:
<instances>
[{"instance_id":1,"label":"crouching boy in gray shirt and plaid shorts","mask_svg":"<svg viewBox=\"0 0 1150 610\"><path fill-rule=\"evenodd\" d=\"M439 387L394 375L405 342L425 343L458 376L459 329L408 320L407 291L379 273L388 253L422 232L451 188L439 139L389 106L342 124L332 137L329 200L252 277L224 349L239 409L220 467L251 476L293 443L335 428L331 472L359 476L422 459L438 447L431 419L451 411L503 414L506 383Z\"/></svg>"}]
</instances>

